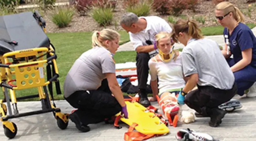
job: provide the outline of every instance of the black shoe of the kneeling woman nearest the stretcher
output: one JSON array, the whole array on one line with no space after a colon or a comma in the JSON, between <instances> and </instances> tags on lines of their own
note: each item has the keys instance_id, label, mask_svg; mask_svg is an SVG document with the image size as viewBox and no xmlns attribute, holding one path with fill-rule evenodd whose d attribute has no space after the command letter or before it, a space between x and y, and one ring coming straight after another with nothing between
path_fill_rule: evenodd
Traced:
<instances>
[{"instance_id":1,"label":"black shoe of the kneeling woman nearest the stretcher","mask_svg":"<svg viewBox=\"0 0 256 141\"><path fill-rule=\"evenodd\" d=\"M83 123L80 121L78 115L76 113L72 113L69 115L69 119L75 123L76 128L81 132L88 132L90 131L90 127L87 125L83 125Z\"/></svg>"}]
</instances>

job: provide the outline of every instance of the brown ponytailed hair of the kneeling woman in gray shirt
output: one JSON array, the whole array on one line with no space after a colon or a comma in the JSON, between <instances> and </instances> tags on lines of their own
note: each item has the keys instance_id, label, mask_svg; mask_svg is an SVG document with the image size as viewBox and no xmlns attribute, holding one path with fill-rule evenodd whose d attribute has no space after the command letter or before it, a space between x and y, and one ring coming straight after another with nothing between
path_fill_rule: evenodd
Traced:
<instances>
[{"instance_id":1,"label":"brown ponytailed hair of the kneeling woman in gray shirt","mask_svg":"<svg viewBox=\"0 0 256 141\"><path fill-rule=\"evenodd\" d=\"M187 33L187 35L195 39L204 38L204 36L202 35L202 31L198 27L195 20L180 19L174 24L173 29L174 33L172 37L174 39L174 42L178 42L177 37L180 32Z\"/></svg>"}]
</instances>

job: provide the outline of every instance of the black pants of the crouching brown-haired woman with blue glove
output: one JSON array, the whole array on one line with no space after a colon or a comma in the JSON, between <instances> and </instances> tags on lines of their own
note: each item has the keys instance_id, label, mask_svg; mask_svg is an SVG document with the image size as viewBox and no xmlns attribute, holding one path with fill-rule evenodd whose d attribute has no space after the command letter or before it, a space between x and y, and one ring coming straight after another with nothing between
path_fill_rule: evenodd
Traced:
<instances>
[{"instance_id":1,"label":"black pants of the crouching brown-haired woman with blue glove","mask_svg":"<svg viewBox=\"0 0 256 141\"><path fill-rule=\"evenodd\" d=\"M187 93L184 103L198 113L210 116L213 108L232 99L237 92L236 84L230 90L221 90L213 86L197 86L197 90Z\"/></svg>"}]
</instances>

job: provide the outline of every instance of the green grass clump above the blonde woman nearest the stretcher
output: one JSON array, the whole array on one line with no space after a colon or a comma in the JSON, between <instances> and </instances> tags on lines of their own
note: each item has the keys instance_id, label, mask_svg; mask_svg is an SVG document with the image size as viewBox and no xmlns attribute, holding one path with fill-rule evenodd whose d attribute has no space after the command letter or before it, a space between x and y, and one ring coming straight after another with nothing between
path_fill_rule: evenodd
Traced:
<instances>
[{"instance_id":1,"label":"green grass clump above the blonde woman nearest the stretcher","mask_svg":"<svg viewBox=\"0 0 256 141\"><path fill-rule=\"evenodd\" d=\"M107 26L111 24L113 12L111 8L97 8L93 7L90 14L100 26Z\"/></svg>"}]
</instances>

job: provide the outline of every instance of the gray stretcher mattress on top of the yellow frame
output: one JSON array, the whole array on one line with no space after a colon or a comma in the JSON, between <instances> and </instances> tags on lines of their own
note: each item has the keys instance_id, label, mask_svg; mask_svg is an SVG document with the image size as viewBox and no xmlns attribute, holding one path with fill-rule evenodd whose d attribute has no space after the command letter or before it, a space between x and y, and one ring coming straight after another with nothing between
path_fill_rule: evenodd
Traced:
<instances>
[{"instance_id":1,"label":"gray stretcher mattress on top of the yellow frame","mask_svg":"<svg viewBox=\"0 0 256 141\"><path fill-rule=\"evenodd\" d=\"M9 44L1 39L18 44ZM10 51L49 46L50 40L32 12L0 16L0 55Z\"/></svg>"}]
</instances>

